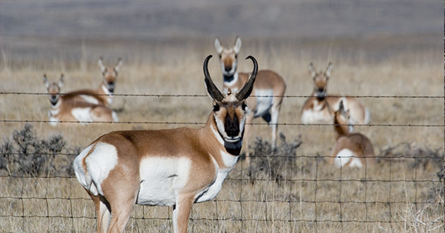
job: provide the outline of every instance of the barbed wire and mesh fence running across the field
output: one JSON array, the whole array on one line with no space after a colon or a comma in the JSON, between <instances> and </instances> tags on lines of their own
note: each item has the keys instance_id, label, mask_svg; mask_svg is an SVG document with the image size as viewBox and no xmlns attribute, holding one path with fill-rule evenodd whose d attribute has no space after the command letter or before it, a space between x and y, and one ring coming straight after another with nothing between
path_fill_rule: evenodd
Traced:
<instances>
[{"instance_id":1,"label":"barbed wire and mesh fence running across the field","mask_svg":"<svg viewBox=\"0 0 445 233\"><path fill-rule=\"evenodd\" d=\"M48 95L40 92L0 92L0 95ZM60 95L64 95L61 93ZM147 94L114 94L121 97L207 97L207 95L147 95ZM267 97L267 96L263 96ZM285 98L306 98L308 95L285 95ZM345 97L344 95L341 97ZM409 98L409 99L442 99L444 96L410 96L410 95L362 95L349 96L357 98ZM45 119L0 119L0 124L20 123L20 124L49 124L52 121ZM191 121L64 121L60 124L165 124L165 125L202 125L205 122ZM252 125L268 125L267 123L253 123ZM333 126L333 124L300 124L297 122L279 123L279 126ZM369 127L408 127L408 128L445 128L444 124L356 124L357 126ZM93 139L93 138L92 138ZM3 148L6 145L1 145ZM0 157L4 160L13 158L20 161L23 156L32 158L45 157L45 167L43 172L39 170L35 174L26 172L14 172L11 167L0 169L0 180L3 183L4 191L0 191L0 230L9 229L13 232L32 231L33 223L40 222L41 230L53 231L54 221L64 222L68 227L62 230L83 231L77 226L93 230L95 226L95 213L93 203L86 197L85 191L81 190L72 170L65 169L61 172L58 165L53 165L54 157L64 161L65 165L71 164L78 155L76 152L57 153L35 153L26 151L11 150L0 151ZM254 177L244 163L238 169L234 169L225 179L223 190L215 200L206 204L211 206L213 213L199 212L194 205L194 211L190 217L190 228L192 232L202 232L204 225L207 231L228 231L230 225L239 226L242 231L251 232L252 227L265 225L271 229L281 229L287 232L300 232L304 229L323 229L326 225L335 225L340 231L348 231L345 227L354 224L366 224L366 227L380 227L380 229L393 229L397 224L408 222L408 213L401 214L401 206L412 205L415 210L415 217L420 217L419 211L432 207L432 213L426 217L429 222L413 220L413 224L431 224L437 229L444 222L444 165L434 167L434 162L444 162L444 152L425 153L422 150L410 150L409 155L398 153L384 156L375 156L379 159L379 166L384 167L380 171L384 174L375 174L367 167L360 169L361 175L357 176L357 171L352 171L345 167L340 167L336 172L331 170L326 172L323 166L330 155L301 154L297 151L295 155L274 154L256 155L256 160L276 160L283 162L278 170L285 169L287 172L275 177L263 176ZM418 153L418 154L417 154ZM52 160L51 160L52 158ZM0 160L2 161L2 160ZM244 167L243 167L244 166ZM432 169L437 174L431 174L426 167L433 166ZM0 165L0 168L2 166ZM442 168L442 169L440 169ZM409 175L400 172L398 169L410 169ZM430 169L431 170L431 169ZM290 172L289 172L290 171ZM360 172L359 172L360 173ZM413 174L414 173L414 174ZM407 177L408 176L408 177ZM270 186L274 186L272 193L269 193ZM380 189L385 186L387 189ZM11 188L12 187L12 188ZM256 187L263 187L259 195L251 194ZM352 188L351 188L352 187ZM402 187L402 188L401 188ZM403 188L404 187L404 188ZM63 191L60 191L63 189ZM231 195L224 195L227 189L233 191ZM309 190L311 196L302 194L302 189ZM362 192L360 195L350 194L351 189ZM434 190L433 190L434 189ZM80 191L79 191L80 190ZM421 190L421 193L418 193ZM276 192L276 193L274 193ZM80 194L81 193L81 194ZM249 194L250 193L250 194ZM324 193L333 194L327 198ZM380 196L380 197L377 197ZM400 196L400 198L398 197ZM384 197L384 198L382 198ZM439 206L439 207L438 207ZM85 210L85 208L91 208ZM150 208L155 209L158 215L150 213ZM172 231L170 216L171 208L154 208L138 206L133 210L129 222L131 229L136 232L145 232L148 224L153 224L162 231ZM439 211L437 211L439 209ZM236 210L236 211L235 211ZM254 211L252 211L254 210ZM326 214L328 210L328 214ZM360 211L354 215L352 211ZM437 212L436 212L437 211ZM252 213L253 212L253 213ZM440 214L441 213L441 214ZM426 214L425 214L426 215ZM417 221L417 222L416 222ZM8 223L5 223L8 222ZM43 222L43 223L42 223ZM147 223L149 222L149 223ZM422 222L422 223L419 223ZM38 224L37 224L38 225ZM307 228L302 228L304 225ZM46 227L46 229L44 229ZM202 226L201 226L202 227ZM439 227L439 229L440 229ZM206 228L204 228L206 229ZM370 228L375 229L375 228ZM88 231L88 230L87 230Z\"/></svg>"}]
</instances>

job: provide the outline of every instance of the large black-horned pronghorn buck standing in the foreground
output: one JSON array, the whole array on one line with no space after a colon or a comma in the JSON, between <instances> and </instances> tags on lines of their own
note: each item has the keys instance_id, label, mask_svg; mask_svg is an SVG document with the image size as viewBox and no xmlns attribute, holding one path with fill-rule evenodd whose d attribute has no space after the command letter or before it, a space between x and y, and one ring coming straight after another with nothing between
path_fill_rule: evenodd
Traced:
<instances>
[{"instance_id":1,"label":"large black-horned pronghorn buck standing in the foreground","mask_svg":"<svg viewBox=\"0 0 445 233\"><path fill-rule=\"evenodd\" d=\"M247 102L258 66L238 92L223 94L208 73L213 110L201 129L114 131L74 160L76 177L95 203L97 232L121 232L133 205L172 205L174 232L186 232L191 205L219 193L241 150ZM110 220L111 219L111 220Z\"/></svg>"}]
</instances>

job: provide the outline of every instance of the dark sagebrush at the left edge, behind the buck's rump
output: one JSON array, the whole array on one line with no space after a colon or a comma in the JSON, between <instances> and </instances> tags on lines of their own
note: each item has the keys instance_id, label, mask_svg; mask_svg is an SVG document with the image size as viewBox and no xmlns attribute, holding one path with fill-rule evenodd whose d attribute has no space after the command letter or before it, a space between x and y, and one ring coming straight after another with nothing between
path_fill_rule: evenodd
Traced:
<instances>
[{"instance_id":1,"label":"dark sagebrush at the left edge, behind the buck's rump","mask_svg":"<svg viewBox=\"0 0 445 233\"><path fill-rule=\"evenodd\" d=\"M72 176L71 153L76 150L66 147L63 136L39 138L32 125L25 124L0 144L0 172L13 176Z\"/></svg>"}]
</instances>

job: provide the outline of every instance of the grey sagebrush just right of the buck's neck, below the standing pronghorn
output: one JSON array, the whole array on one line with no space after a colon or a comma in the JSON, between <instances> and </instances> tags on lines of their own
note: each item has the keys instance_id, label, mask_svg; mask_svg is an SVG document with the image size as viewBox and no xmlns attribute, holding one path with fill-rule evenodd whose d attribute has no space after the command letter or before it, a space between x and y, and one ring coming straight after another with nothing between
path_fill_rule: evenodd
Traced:
<instances>
[{"instance_id":1,"label":"grey sagebrush just right of the buck's neck, below the standing pronghorn","mask_svg":"<svg viewBox=\"0 0 445 233\"><path fill-rule=\"evenodd\" d=\"M280 133L280 143L275 149L271 143L264 141L260 137L255 138L254 145L251 146L251 162L249 166L249 177L252 181L256 179L268 179L282 181L290 179L292 172L291 163L295 162L297 148L302 141L296 138L293 142L287 142L283 133Z\"/></svg>"}]
</instances>

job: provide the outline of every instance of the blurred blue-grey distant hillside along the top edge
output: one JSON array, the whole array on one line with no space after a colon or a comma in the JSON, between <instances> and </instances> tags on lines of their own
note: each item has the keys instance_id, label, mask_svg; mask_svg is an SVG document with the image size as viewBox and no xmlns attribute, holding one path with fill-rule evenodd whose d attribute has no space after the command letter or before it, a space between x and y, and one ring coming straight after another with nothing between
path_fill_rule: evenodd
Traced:
<instances>
[{"instance_id":1,"label":"blurred blue-grey distant hillside along the top edge","mask_svg":"<svg viewBox=\"0 0 445 233\"><path fill-rule=\"evenodd\" d=\"M444 31L437 0L1 0L0 36L357 37Z\"/></svg>"}]
</instances>

